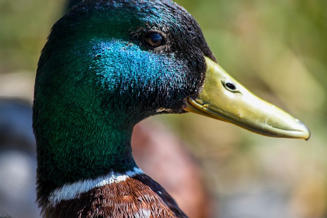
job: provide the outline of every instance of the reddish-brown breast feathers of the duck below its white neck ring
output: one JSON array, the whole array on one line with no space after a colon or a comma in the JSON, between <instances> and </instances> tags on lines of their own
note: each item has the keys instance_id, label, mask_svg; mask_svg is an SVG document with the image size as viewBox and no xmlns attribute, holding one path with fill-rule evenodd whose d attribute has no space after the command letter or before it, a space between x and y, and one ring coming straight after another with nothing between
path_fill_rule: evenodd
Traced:
<instances>
[{"instance_id":1,"label":"reddish-brown breast feathers of the duck below its white neck ring","mask_svg":"<svg viewBox=\"0 0 327 218\"><path fill-rule=\"evenodd\" d=\"M94 188L44 212L46 218L187 217L166 190L146 175Z\"/></svg>"}]
</instances>

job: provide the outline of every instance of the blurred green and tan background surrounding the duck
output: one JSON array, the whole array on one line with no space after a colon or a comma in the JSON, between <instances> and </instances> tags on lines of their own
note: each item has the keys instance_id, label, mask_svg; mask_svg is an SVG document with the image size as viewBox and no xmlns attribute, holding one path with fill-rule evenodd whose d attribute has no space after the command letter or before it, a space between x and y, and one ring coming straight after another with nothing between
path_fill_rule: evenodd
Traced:
<instances>
[{"instance_id":1,"label":"blurred green and tan background surrounding the duck","mask_svg":"<svg viewBox=\"0 0 327 218\"><path fill-rule=\"evenodd\" d=\"M185 142L213 217L327 217L327 1L176 2L229 74L299 118L312 137L268 138L195 114L143 123L160 123ZM63 0L0 0L0 214L39 212L30 107L40 51L65 7Z\"/></svg>"}]
</instances>

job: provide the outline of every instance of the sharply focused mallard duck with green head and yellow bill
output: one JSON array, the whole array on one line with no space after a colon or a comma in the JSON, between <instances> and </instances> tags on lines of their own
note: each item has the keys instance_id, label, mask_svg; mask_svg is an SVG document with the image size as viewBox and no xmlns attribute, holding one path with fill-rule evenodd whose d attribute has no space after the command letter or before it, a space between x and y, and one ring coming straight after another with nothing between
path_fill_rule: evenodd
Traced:
<instances>
[{"instance_id":1,"label":"sharply focused mallard duck with green head and yellow bill","mask_svg":"<svg viewBox=\"0 0 327 218\"><path fill-rule=\"evenodd\" d=\"M308 128L218 65L195 19L163 1L86 0L52 28L35 80L43 217L186 217L131 153L135 124L194 112L274 137ZM167 175L169 176L169 175Z\"/></svg>"}]
</instances>

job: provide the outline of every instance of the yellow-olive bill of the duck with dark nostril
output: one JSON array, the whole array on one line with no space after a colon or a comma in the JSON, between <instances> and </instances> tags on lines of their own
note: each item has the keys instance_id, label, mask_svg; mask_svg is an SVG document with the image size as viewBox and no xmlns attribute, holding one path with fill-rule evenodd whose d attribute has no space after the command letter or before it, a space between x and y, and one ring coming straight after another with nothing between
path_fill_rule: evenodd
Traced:
<instances>
[{"instance_id":1,"label":"yellow-olive bill of the duck with dark nostril","mask_svg":"<svg viewBox=\"0 0 327 218\"><path fill-rule=\"evenodd\" d=\"M202 114L272 137L309 139L310 131L298 119L267 103L216 62L205 57L207 69L203 90L185 101L185 111Z\"/></svg>"}]
</instances>

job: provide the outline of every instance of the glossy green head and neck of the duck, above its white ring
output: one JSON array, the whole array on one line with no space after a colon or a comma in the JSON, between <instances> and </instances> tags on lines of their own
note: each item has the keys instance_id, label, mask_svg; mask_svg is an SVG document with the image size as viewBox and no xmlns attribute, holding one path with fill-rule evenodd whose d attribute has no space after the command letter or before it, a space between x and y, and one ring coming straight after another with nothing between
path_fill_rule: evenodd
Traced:
<instances>
[{"instance_id":1,"label":"glossy green head and neck of the duck, above its white ring","mask_svg":"<svg viewBox=\"0 0 327 218\"><path fill-rule=\"evenodd\" d=\"M133 126L183 113L215 60L194 18L172 1L85 1L52 28L33 106L39 198L66 182L135 166Z\"/></svg>"}]
</instances>

